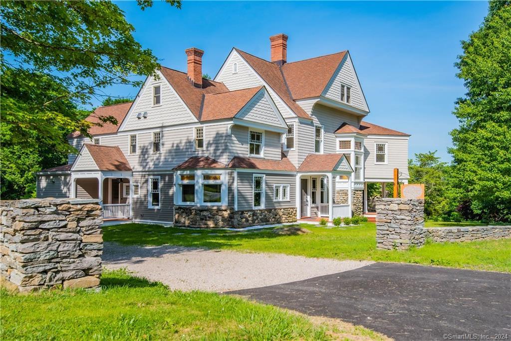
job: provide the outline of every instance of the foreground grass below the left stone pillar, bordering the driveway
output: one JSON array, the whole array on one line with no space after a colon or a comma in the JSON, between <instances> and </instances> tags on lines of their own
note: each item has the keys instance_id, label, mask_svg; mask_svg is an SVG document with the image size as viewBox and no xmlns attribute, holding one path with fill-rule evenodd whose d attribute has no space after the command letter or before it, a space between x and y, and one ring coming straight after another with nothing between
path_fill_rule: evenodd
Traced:
<instances>
[{"instance_id":1,"label":"foreground grass below the left stone pillar, bordering the driveway","mask_svg":"<svg viewBox=\"0 0 511 341\"><path fill-rule=\"evenodd\" d=\"M241 298L170 291L161 283L105 271L99 293L10 294L2 290L2 339L382 339L359 326L313 323L306 316Z\"/></svg>"}]
</instances>

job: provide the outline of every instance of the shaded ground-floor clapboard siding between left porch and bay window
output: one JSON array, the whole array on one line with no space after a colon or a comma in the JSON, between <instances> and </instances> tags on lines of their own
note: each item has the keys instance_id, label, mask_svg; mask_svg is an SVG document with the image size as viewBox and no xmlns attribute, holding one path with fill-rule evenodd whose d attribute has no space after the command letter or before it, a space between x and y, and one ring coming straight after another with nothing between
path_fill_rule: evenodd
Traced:
<instances>
[{"instance_id":1,"label":"shaded ground-floor clapboard siding between left porch and bay window","mask_svg":"<svg viewBox=\"0 0 511 341\"><path fill-rule=\"evenodd\" d=\"M149 177L160 177L160 208L148 208ZM174 221L174 175L172 173L134 173L133 184L138 184L140 195L132 198L133 219L152 221Z\"/></svg>"}]
</instances>

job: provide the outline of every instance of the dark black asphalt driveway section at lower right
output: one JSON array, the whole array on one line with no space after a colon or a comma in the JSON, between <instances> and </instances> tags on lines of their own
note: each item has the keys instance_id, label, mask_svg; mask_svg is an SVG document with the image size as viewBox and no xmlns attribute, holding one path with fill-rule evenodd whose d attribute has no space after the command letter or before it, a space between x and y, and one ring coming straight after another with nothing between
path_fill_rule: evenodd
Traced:
<instances>
[{"instance_id":1,"label":"dark black asphalt driveway section at lower right","mask_svg":"<svg viewBox=\"0 0 511 341\"><path fill-rule=\"evenodd\" d=\"M342 319L397 340L460 339L462 334L463 339L498 334L511 339L511 275L498 272L375 263L228 293Z\"/></svg>"}]
</instances>

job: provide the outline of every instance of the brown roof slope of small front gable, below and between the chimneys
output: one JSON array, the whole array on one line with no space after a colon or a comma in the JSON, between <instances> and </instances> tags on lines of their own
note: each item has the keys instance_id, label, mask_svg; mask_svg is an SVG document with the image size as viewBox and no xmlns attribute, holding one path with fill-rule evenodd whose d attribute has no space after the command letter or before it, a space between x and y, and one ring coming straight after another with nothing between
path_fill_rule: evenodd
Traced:
<instances>
[{"instance_id":1,"label":"brown roof slope of small front gable, below and between the chimneys","mask_svg":"<svg viewBox=\"0 0 511 341\"><path fill-rule=\"evenodd\" d=\"M236 116L241 108L261 90L263 86L229 91L204 96L200 121L228 119Z\"/></svg>"}]
</instances>

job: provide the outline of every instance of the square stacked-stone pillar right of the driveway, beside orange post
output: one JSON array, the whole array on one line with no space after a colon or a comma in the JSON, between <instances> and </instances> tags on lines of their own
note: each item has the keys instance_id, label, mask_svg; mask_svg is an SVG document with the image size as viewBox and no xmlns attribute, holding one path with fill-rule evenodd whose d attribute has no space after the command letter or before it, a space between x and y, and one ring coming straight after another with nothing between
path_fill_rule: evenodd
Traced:
<instances>
[{"instance_id":1,"label":"square stacked-stone pillar right of the driveway, beside orange post","mask_svg":"<svg viewBox=\"0 0 511 341\"><path fill-rule=\"evenodd\" d=\"M376 248L407 250L425 238L423 199L377 199Z\"/></svg>"}]
</instances>

